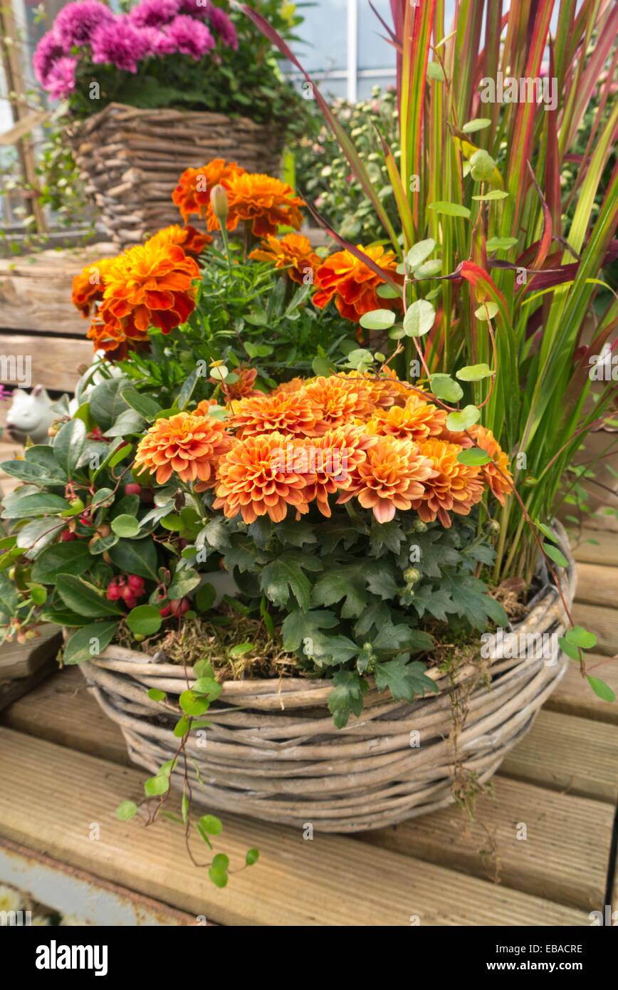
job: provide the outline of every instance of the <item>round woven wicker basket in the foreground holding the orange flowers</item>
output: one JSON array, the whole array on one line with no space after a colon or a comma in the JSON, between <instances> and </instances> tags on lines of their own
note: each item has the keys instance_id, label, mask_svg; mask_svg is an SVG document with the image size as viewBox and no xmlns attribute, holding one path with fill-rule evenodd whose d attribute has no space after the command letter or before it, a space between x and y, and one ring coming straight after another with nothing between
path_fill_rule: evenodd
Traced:
<instances>
[{"instance_id":1,"label":"round woven wicker basket in the foreground holding the orange flowers","mask_svg":"<svg viewBox=\"0 0 618 990\"><path fill-rule=\"evenodd\" d=\"M568 556L564 531L563 537ZM575 569L568 560L562 583L570 606ZM558 593L548 585L515 631L562 635L564 626ZM480 783L495 773L566 666L562 655L553 665L516 658L470 663L456 676L432 670L438 694L410 706L373 690L361 718L342 731L326 705L330 681L226 681L208 712L205 740L187 743L194 799L210 809L347 833L443 808L465 771ZM180 712L175 699L187 687L181 667L112 645L81 670L136 763L154 772L171 758L178 746L171 731ZM151 687L165 691L168 701L152 702ZM415 732L420 740L411 737ZM173 783L180 779L172 775Z\"/></svg>"}]
</instances>

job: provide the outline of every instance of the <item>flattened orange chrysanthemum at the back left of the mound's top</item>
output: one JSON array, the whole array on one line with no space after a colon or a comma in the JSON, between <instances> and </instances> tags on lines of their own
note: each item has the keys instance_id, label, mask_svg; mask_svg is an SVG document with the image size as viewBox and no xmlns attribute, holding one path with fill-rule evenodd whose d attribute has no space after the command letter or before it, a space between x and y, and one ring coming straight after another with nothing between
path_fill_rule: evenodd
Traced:
<instances>
[{"instance_id":1,"label":"flattened orange chrysanthemum at the back left of the mound's top","mask_svg":"<svg viewBox=\"0 0 618 990\"><path fill-rule=\"evenodd\" d=\"M232 403L230 426L237 437L283 433L312 435L320 419L320 407L306 390L277 392Z\"/></svg>"}]
</instances>

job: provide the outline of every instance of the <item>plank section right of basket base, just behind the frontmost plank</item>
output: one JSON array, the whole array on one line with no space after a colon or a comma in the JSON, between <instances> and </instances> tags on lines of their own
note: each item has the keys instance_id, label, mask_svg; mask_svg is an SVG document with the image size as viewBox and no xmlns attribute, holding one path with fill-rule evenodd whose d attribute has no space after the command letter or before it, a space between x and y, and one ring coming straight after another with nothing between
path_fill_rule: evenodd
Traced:
<instances>
[{"instance_id":1,"label":"plank section right of basket base, just behind the frontmost plank","mask_svg":"<svg viewBox=\"0 0 618 990\"><path fill-rule=\"evenodd\" d=\"M613 806L506 777L493 778L492 792L477 799L471 823L447 808L359 838L570 907L599 909Z\"/></svg>"}]
</instances>

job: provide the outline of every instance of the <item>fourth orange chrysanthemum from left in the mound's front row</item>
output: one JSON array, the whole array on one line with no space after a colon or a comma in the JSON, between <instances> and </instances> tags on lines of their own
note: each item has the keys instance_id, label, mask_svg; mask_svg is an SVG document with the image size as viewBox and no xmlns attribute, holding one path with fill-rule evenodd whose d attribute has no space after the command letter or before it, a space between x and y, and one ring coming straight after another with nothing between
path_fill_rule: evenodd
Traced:
<instances>
[{"instance_id":1,"label":"fourth orange chrysanthemum from left in the mound's front row","mask_svg":"<svg viewBox=\"0 0 618 990\"><path fill-rule=\"evenodd\" d=\"M366 450L365 459L338 502L349 502L356 496L363 509L371 509L378 523L389 523L397 509L407 512L423 496L423 482L435 474L432 461L416 444L380 437Z\"/></svg>"}]
</instances>

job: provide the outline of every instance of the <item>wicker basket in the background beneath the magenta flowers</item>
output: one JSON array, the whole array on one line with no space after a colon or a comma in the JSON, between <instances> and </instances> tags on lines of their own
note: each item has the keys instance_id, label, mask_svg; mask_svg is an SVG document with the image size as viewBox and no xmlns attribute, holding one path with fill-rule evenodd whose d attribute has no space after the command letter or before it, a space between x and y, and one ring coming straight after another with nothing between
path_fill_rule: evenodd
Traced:
<instances>
[{"instance_id":1,"label":"wicker basket in the background beneath the magenta flowers","mask_svg":"<svg viewBox=\"0 0 618 990\"><path fill-rule=\"evenodd\" d=\"M248 171L276 175L283 147L278 130L245 117L121 103L72 124L66 137L86 192L119 247L181 223L171 193L185 168L227 158Z\"/></svg>"}]
</instances>

